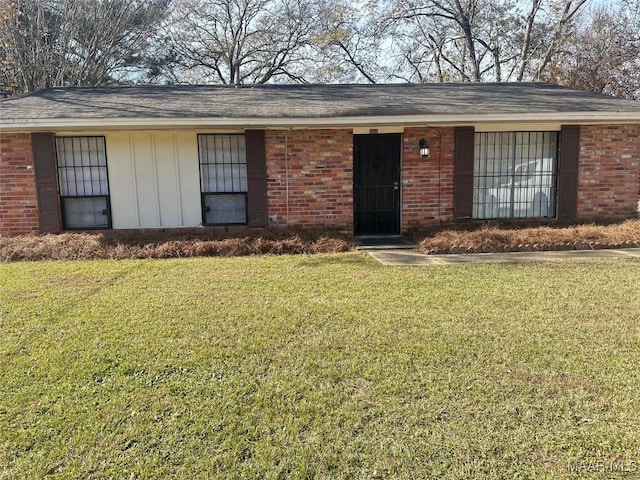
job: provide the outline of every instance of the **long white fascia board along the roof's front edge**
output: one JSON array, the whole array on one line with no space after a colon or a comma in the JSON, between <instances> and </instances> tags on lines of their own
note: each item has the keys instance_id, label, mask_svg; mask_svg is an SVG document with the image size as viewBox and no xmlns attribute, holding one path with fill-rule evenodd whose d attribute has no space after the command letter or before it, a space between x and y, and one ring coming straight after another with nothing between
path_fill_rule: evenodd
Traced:
<instances>
[{"instance_id":1,"label":"long white fascia board along the roof's front edge","mask_svg":"<svg viewBox=\"0 0 640 480\"><path fill-rule=\"evenodd\" d=\"M470 125L474 123L561 122L580 125L604 123L640 123L638 112L570 112L570 113L508 113L508 114L447 114L399 115L376 117L322 118L43 118L0 120L0 131L18 130L82 130L99 129L171 129L171 128L349 128L376 125Z\"/></svg>"}]
</instances>

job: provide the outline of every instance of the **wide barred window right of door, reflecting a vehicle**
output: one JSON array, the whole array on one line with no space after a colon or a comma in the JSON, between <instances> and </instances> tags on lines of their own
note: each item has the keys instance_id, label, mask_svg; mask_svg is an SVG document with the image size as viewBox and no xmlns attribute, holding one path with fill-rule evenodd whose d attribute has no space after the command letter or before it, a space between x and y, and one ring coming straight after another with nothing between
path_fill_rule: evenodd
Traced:
<instances>
[{"instance_id":1,"label":"wide barred window right of door, reflecting a vehicle","mask_svg":"<svg viewBox=\"0 0 640 480\"><path fill-rule=\"evenodd\" d=\"M473 218L555 217L557 132L476 132Z\"/></svg>"}]
</instances>

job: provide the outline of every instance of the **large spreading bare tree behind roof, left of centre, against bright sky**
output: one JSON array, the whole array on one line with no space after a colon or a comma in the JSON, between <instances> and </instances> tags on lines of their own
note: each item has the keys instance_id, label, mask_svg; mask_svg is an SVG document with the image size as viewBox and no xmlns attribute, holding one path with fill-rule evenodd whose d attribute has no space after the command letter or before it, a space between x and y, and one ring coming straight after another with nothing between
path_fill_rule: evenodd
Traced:
<instances>
[{"instance_id":1,"label":"large spreading bare tree behind roof, left of centre, against bright sky","mask_svg":"<svg viewBox=\"0 0 640 480\"><path fill-rule=\"evenodd\" d=\"M303 82L316 10L309 0L178 0L164 30L170 61L157 74L176 83Z\"/></svg>"}]
</instances>

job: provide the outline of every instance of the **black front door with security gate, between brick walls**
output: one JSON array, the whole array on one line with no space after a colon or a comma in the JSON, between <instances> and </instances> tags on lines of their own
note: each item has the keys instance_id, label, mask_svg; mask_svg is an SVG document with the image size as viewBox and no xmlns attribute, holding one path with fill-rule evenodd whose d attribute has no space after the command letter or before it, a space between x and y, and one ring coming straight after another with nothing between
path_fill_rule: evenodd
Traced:
<instances>
[{"instance_id":1,"label":"black front door with security gate, between brick walls","mask_svg":"<svg viewBox=\"0 0 640 480\"><path fill-rule=\"evenodd\" d=\"M353 136L355 235L400 234L401 135Z\"/></svg>"}]
</instances>

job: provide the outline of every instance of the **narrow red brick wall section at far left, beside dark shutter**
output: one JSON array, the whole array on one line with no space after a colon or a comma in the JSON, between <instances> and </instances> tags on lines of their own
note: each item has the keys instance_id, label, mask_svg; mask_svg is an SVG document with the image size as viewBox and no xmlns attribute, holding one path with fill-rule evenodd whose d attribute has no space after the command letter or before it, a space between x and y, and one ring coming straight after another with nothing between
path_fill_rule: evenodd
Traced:
<instances>
[{"instance_id":1,"label":"narrow red brick wall section at far left, beside dark shutter","mask_svg":"<svg viewBox=\"0 0 640 480\"><path fill-rule=\"evenodd\" d=\"M31 136L0 136L0 235L18 235L39 229Z\"/></svg>"}]
</instances>

